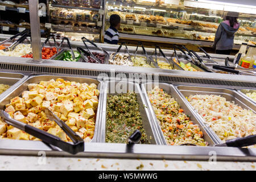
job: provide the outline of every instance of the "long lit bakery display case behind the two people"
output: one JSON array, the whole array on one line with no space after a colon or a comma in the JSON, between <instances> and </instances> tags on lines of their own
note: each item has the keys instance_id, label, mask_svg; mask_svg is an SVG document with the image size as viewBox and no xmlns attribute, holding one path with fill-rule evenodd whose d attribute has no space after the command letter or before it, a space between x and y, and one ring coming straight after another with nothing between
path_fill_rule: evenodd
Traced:
<instances>
[{"instance_id":1,"label":"long lit bakery display case behind the two people","mask_svg":"<svg viewBox=\"0 0 256 182\"><path fill-rule=\"evenodd\" d=\"M130 37L146 35L178 39L177 42L186 39L211 43L228 9L225 5L210 5L185 0L106 1L105 30L110 26L110 15L118 14L121 17L119 32L131 34ZM256 7L250 10L240 13L241 26L234 44L256 42Z\"/></svg>"}]
</instances>

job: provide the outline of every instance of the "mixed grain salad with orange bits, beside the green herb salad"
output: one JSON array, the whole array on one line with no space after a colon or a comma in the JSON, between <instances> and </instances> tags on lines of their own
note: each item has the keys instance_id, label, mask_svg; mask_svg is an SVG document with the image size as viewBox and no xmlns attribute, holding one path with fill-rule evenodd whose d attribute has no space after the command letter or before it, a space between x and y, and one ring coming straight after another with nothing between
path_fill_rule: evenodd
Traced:
<instances>
[{"instance_id":1,"label":"mixed grain salad with orange bits, beside the green herb salad","mask_svg":"<svg viewBox=\"0 0 256 182\"><path fill-rule=\"evenodd\" d=\"M190 121L189 116L184 114L184 110L173 97L158 86L147 94L168 145L185 143L197 146L208 145L199 126Z\"/></svg>"}]
</instances>

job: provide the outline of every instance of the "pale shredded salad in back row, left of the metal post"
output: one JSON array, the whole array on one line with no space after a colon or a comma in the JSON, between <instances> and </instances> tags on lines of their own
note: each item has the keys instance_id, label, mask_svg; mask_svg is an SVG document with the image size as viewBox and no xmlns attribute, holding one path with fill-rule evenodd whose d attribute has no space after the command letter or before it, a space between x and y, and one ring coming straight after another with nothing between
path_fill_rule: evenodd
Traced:
<instances>
[{"instance_id":1,"label":"pale shredded salad in back row, left of the metal post","mask_svg":"<svg viewBox=\"0 0 256 182\"><path fill-rule=\"evenodd\" d=\"M0 56L14 56L21 57L32 52L31 44L19 44L14 48L13 51L3 51L0 50Z\"/></svg>"}]
</instances>

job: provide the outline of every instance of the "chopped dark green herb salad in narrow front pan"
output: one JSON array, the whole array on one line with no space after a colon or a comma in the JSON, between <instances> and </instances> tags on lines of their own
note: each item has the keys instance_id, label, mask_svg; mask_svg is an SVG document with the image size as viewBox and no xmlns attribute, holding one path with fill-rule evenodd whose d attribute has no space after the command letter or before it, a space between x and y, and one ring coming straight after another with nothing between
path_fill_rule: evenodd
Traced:
<instances>
[{"instance_id":1,"label":"chopped dark green herb salad in narrow front pan","mask_svg":"<svg viewBox=\"0 0 256 182\"><path fill-rule=\"evenodd\" d=\"M107 143L126 143L127 138L137 129L142 133L141 143L150 143L143 129L139 103L134 92L109 95L106 117Z\"/></svg>"}]
</instances>

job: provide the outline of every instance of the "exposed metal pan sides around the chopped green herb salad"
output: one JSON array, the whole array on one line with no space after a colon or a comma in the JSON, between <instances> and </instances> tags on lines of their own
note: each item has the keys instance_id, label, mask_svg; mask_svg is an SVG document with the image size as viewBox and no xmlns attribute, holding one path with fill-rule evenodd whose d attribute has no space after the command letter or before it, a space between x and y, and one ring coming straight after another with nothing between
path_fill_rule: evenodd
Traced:
<instances>
[{"instance_id":1,"label":"exposed metal pan sides around the chopped green herb salad","mask_svg":"<svg viewBox=\"0 0 256 182\"><path fill-rule=\"evenodd\" d=\"M118 95L119 93L126 93L128 90L134 91L137 95L137 101L139 102L139 111L142 117L143 128L146 131L146 135L150 140L150 144L161 144L159 140L159 135L155 131L154 124L152 123L152 119L150 117L148 108L146 106L146 102L144 101L144 97L141 92L141 88L139 84L134 82L127 81L105 81L105 90L104 93L104 106L102 107L102 125L101 125L101 137L100 142L105 143L106 136L106 104L108 95Z\"/></svg>"}]
</instances>

